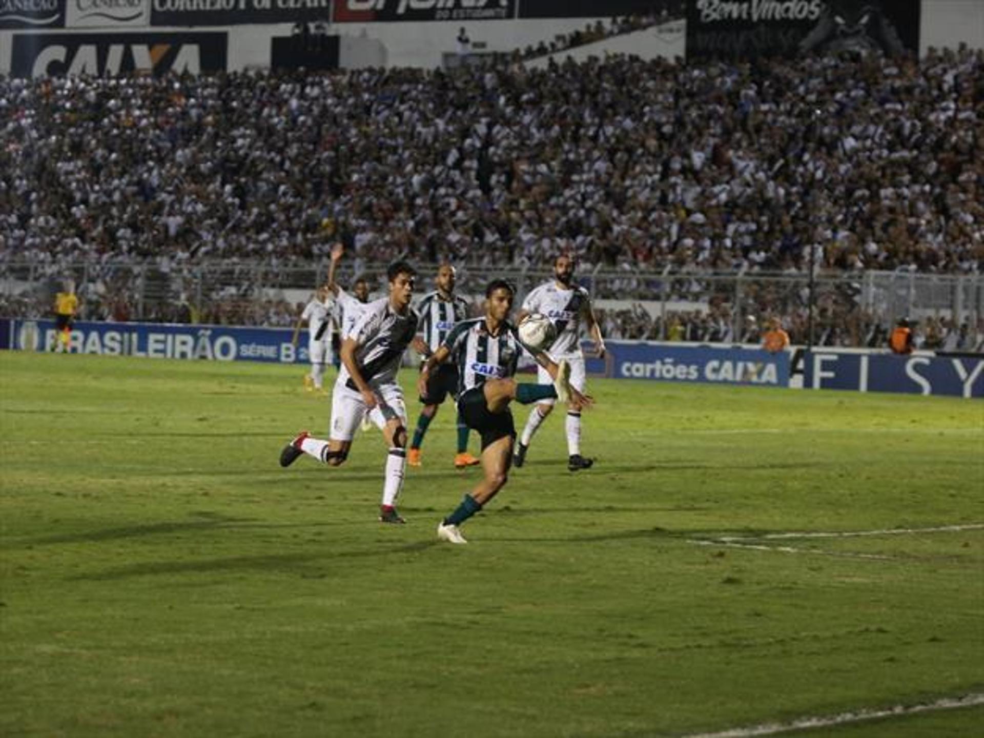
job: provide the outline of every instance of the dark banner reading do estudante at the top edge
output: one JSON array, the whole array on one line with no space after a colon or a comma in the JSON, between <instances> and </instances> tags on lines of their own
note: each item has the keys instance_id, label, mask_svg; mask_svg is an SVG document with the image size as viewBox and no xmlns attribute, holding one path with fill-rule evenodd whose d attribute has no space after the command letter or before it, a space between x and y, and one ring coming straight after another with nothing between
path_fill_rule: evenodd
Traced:
<instances>
[{"instance_id":1,"label":"dark banner reading do estudante at the top edge","mask_svg":"<svg viewBox=\"0 0 984 738\"><path fill-rule=\"evenodd\" d=\"M333 23L510 21L518 0L335 0Z\"/></svg>"}]
</instances>

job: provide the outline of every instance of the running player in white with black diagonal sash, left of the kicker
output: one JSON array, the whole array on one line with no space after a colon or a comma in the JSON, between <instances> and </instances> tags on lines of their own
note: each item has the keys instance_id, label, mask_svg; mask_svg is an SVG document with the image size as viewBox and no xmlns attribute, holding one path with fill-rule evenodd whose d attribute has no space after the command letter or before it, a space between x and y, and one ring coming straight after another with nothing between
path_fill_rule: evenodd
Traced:
<instances>
[{"instance_id":1,"label":"running player in white with black diagonal sash, left of the kicker","mask_svg":"<svg viewBox=\"0 0 984 738\"><path fill-rule=\"evenodd\" d=\"M387 270L387 297L369 303L365 313L341 342L341 371L332 394L332 424L328 441L302 431L280 452L280 465L289 466L303 454L330 466L345 461L352 437L366 415L383 431L389 446L383 482L381 523L404 523L397 497L406 465L406 405L397 381L400 359L417 333L417 314L410 307L416 273L406 262Z\"/></svg>"}]
</instances>

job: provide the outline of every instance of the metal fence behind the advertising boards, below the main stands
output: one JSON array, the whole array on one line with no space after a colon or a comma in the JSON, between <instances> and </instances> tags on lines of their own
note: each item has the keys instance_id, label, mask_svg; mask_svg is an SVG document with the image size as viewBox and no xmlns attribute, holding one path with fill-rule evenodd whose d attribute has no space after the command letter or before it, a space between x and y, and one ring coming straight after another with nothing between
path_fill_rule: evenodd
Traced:
<instances>
[{"instance_id":1,"label":"metal fence behind the advertising boards, below the main stands","mask_svg":"<svg viewBox=\"0 0 984 738\"><path fill-rule=\"evenodd\" d=\"M418 291L433 288L436 265L418 265ZM385 287L386 266L345 260L338 282L367 276ZM458 291L480 303L485 284L506 277L519 299L549 279L548 269L459 269ZM71 279L81 317L232 325L287 325L298 302L328 276L327 263L188 264L0 261L0 314L41 317L55 291ZM984 277L902 272L805 274L716 273L635 267L582 272L605 331L619 338L755 342L763 324L779 318L796 343L884 345L902 317L917 321L928 348L979 349L984 339ZM812 299L811 299L812 297ZM811 304L812 320L811 320ZM811 336L812 334L812 336Z\"/></svg>"}]
</instances>

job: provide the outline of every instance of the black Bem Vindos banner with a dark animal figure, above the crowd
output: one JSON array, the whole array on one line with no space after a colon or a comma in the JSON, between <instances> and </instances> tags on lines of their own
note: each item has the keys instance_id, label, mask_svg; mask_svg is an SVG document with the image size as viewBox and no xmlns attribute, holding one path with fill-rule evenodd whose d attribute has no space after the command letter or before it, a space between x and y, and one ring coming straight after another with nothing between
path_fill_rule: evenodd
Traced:
<instances>
[{"instance_id":1,"label":"black Bem Vindos banner with a dark animal figure, above the crowd","mask_svg":"<svg viewBox=\"0 0 984 738\"><path fill-rule=\"evenodd\" d=\"M919 50L921 0L692 0L687 57Z\"/></svg>"}]
</instances>

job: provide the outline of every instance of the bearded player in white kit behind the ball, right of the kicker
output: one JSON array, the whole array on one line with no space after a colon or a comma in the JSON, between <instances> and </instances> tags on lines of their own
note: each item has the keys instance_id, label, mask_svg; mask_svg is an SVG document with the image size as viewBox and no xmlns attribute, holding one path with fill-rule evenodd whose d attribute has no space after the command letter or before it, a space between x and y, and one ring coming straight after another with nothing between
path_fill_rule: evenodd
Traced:
<instances>
[{"instance_id":1,"label":"bearded player in white kit behind the ball, right of the kicker","mask_svg":"<svg viewBox=\"0 0 984 738\"><path fill-rule=\"evenodd\" d=\"M601 336L601 327L594 320L591 310L591 299L584 287L574 283L574 258L561 254L554 262L554 278L535 287L523 300L523 310L520 311L520 321L529 313L542 313L547 316L557 329L557 338L547 349L555 361L561 359L571 365L571 385L579 392L584 392L584 352L581 349L581 325L587 327L590 337L594 340L594 355L605 355L605 340ZM541 366L539 381L550 381ZM533 434L553 410L554 400L543 400L529 411L523 435L516 447L513 463L522 466L526 461L526 450L533 440ZM581 409L567 408L567 467L571 471L590 468L593 459L585 459L581 455Z\"/></svg>"}]
</instances>

